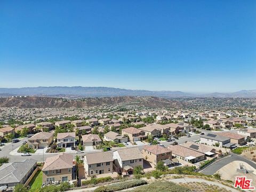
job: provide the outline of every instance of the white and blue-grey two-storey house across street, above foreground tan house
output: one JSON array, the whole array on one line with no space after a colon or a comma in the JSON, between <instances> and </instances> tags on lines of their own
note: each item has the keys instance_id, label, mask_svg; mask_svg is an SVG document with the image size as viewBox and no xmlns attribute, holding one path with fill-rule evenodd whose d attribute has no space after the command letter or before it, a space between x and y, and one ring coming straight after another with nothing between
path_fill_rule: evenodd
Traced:
<instances>
[{"instance_id":1,"label":"white and blue-grey two-storey house across street, above foreground tan house","mask_svg":"<svg viewBox=\"0 0 256 192\"><path fill-rule=\"evenodd\" d=\"M57 146L58 147L75 147L76 143L76 133L58 133L57 134Z\"/></svg>"}]
</instances>

